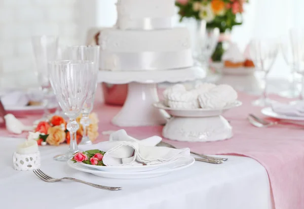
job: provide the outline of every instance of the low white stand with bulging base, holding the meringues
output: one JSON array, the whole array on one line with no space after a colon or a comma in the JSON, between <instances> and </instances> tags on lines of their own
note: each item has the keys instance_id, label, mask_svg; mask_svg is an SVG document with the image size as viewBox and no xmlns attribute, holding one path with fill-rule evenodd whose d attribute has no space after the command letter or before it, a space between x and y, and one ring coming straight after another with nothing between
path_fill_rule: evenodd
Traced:
<instances>
[{"instance_id":1,"label":"low white stand with bulging base, holding the meringues","mask_svg":"<svg viewBox=\"0 0 304 209\"><path fill-rule=\"evenodd\" d=\"M222 109L175 109L157 102L154 106L172 117L163 129L165 138L187 142L212 142L233 136L230 123L221 114L242 104L240 101Z\"/></svg>"}]
</instances>

